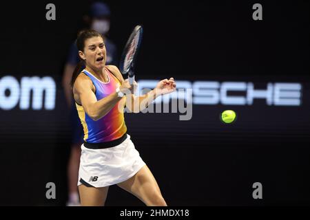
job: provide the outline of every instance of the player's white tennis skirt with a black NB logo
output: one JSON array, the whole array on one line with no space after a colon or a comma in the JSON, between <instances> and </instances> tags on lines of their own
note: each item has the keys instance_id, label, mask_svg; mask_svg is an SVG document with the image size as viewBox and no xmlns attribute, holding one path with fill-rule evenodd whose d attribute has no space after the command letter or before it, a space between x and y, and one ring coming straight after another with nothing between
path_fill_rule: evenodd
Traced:
<instances>
[{"instance_id":1,"label":"player's white tennis skirt with a black NB logo","mask_svg":"<svg viewBox=\"0 0 310 220\"><path fill-rule=\"evenodd\" d=\"M145 166L130 135L117 146L90 149L82 144L81 150L78 186L112 186L130 179Z\"/></svg>"}]
</instances>

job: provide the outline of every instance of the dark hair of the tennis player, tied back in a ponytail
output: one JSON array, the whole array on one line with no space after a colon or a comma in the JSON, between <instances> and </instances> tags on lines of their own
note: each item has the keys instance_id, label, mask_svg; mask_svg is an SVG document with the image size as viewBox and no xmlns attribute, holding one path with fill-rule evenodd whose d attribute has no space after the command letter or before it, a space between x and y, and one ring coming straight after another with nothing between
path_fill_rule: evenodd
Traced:
<instances>
[{"instance_id":1,"label":"dark hair of the tennis player, tied back in a ponytail","mask_svg":"<svg viewBox=\"0 0 310 220\"><path fill-rule=\"evenodd\" d=\"M85 41L87 39L91 39L94 36L101 36L103 37L99 32L96 32L95 30L81 30L81 32L79 32L77 39L76 39L76 47L77 49L80 51L84 52L84 47L85 47ZM76 78L79 76L79 74L81 73L81 68L83 67L83 65L85 65L84 61L81 59L81 57L79 56L80 61L79 63L76 65L74 72L72 74L72 78L71 78L71 87L73 88L74 82L76 80Z\"/></svg>"}]
</instances>

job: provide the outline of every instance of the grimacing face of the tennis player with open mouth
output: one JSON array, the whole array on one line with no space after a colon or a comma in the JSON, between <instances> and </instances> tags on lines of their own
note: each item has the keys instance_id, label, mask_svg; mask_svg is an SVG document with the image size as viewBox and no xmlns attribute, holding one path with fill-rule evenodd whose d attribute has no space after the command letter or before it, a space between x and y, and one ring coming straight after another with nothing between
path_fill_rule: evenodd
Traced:
<instances>
[{"instance_id":1,"label":"grimacing face of the tennis player with open mouth","mask_svg":"<svg viewBox=\"0 0 310 220\"><path fill-rule=\"evenodd\" d=\"M94 36L91 39L87 39L83 54L86 58L86 65L94 69L103 69L105 67L107 52L101 36Z\"/></svg>"}]
</instances>

